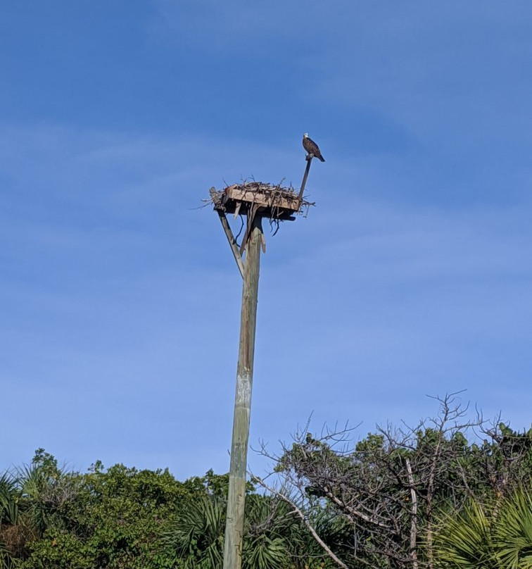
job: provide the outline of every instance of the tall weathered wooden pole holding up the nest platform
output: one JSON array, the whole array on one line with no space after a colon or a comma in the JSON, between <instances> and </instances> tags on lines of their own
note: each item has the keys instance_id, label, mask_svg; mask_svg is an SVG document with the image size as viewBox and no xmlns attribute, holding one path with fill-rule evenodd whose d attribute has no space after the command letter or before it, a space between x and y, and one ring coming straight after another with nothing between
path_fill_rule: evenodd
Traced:
<instances>
[{"instance_id":1,"label":"tall weathered wooden pole holding up the nest platform","mask_svg":"<svg viewBox=\"0 0 532 569\"><path fill-rule=\"evenodd\" d=\"M242 308L240 314L239 363L236 366L233 437L229 469L229 496L225 525L224 569L241 569L244 502L246 500L246 465L248 456L255 324L257 320L262 218L255 216L246 244Z\"/></svg>"}]
</instances>

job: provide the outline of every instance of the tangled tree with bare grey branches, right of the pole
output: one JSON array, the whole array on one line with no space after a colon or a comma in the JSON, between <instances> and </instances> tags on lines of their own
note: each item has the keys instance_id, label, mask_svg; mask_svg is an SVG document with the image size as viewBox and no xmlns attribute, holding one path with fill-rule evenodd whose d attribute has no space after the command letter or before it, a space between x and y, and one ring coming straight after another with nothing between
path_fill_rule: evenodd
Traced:
<instances>
[{"instance_id":1,"label":"tangled tree with bare grey branches, right of the pole","mask_svg":"<svg viewBox=\"0 0 532 569\"><path fill-rule=\"evenodd\" d=\"M347 427L315 437L308 425L279 455L262 445L260 453L275 463L277 485L255 480L291 504L338 567L433 569L438 511L457 511L492 488L502 492L515 473L526 471L519 464L528 452L522 442L519 449L510 445L508 432L488 426L478 411L469 420L458 393L433 399L436 417L413 427L378 427L354 446ZM487 439L469 442L481 436ZM341 555L312 524L317 508L348 524L350 544Z\"/></svg>"}]
</instances>

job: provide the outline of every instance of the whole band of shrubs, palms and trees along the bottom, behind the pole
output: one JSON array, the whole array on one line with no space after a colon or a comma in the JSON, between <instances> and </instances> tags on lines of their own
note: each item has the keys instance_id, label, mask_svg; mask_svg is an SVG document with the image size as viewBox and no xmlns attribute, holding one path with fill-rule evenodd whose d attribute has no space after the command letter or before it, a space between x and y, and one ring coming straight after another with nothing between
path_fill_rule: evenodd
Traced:
<instances>
[{"instance_id":1,"label":"whole band of shrubs, palms and trees along the bottom, behind the pole","mask_svg":"<svg viewBox=\"0 0 532 569\"><path fill-rule=\"evenodd\" d=\"M305 430L270 456L278 486L246 488L243 569L532 569L532 430L463 420L453 401L354 447ZM38 449L0 473L0 569L221 568L228 480L76 473Z\"/></svg>"}]
</instances>

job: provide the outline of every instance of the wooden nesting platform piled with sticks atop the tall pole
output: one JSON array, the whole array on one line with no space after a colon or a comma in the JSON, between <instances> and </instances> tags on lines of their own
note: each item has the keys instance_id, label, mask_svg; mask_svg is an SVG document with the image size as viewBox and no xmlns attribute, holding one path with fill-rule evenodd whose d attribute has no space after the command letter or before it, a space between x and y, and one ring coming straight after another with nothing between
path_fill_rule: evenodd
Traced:
<instances>
[{"instance_id":1,"label":"wooden nesting platform piled with sticks atop the tall pole","mask_svg":"<svg viewBox=\"0 0 532 569\"><path fill-rule=\"evenodd\" d=\"M260 215L264 218L294 220L294 214L311 206L309 201L300 200L293 189L263 182L233 184L216 192L215 209L234 215Z\"/></svg>"}]
</instances>

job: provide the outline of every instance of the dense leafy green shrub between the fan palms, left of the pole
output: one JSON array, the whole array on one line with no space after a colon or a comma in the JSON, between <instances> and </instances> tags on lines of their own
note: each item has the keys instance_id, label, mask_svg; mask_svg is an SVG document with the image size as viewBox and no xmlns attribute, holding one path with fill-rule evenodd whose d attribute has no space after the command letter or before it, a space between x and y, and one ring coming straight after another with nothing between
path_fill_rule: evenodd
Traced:
<instances>
[{"instance_id":1,"label":"dense leafy green shrub between the fan palms, left of the pole","mask_svg":"<svg viewBox=\"0 0 532 569\"><path fill-rule=\"evenodd\" d=\"M165 471L96 463L75 480L77 492L44 539L32 544L23 568L166 568L158 535L189 490Z\"/></svg>"}]
</instances>

